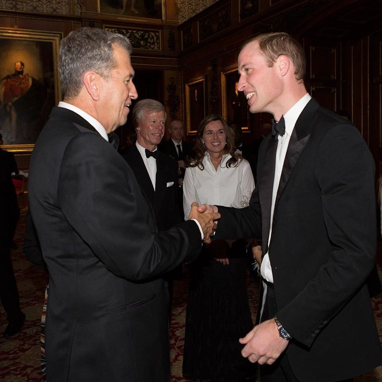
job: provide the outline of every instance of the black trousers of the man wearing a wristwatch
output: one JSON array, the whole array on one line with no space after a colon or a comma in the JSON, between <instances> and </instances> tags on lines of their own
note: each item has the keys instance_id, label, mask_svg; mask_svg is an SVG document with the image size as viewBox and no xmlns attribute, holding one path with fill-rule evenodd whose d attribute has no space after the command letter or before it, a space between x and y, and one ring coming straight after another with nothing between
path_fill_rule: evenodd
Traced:
<instances>
[{"instance_id":1,"label":"black trousers of the man wearing a wristwatch","mask_svg":"<svg viewBox=\"0 0 382 382\"><path fill-rule=\"evenodd\" d=\"M275 289L273 288L273 284L267 283L267 296L264 305L262 321L266 321L275 317L277 310ZM261 382L300 382L294 376L285 352L276 360L273 365L260 366L260 379ZM353 379L338 382L352 381Z\"/></svg>"}]
</instances>

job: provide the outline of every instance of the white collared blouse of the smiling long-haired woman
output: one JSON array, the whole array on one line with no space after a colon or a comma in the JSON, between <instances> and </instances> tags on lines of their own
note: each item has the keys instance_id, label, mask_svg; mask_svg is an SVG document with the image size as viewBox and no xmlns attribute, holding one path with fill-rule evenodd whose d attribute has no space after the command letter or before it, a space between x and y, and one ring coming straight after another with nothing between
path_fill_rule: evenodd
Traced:
<instances>
[{"instance_id":1,"label":"white collared blouse of the smiling long-haired woman","mask_svg":"<svg viewBox=\"0 0 382 382\"><path fill-rule=\"evenodd\" d=\"M243 159L236 167L226 167L230 154L223 155L220 166L215 170L206 152L202 164L186 169L183 183L183 209L185 219L190 214L191 203L217 204L227 207L243 208L249 204L255 182L249 162Z\"/></svg>"}]
</instances>

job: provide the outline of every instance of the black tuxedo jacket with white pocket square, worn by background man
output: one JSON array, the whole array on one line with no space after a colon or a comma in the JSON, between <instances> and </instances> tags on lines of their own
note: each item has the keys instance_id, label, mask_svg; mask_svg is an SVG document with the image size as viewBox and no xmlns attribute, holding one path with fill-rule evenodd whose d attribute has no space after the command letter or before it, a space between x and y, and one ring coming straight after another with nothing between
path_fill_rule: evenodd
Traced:
<instances>
[{"instance_id":1,"label":"black tuxedo jacket with white pocket square, worn by background man","mask_svg":"<svg viewBox=\"0 0 382 382\"><path fill-rule=\"evenodd\" d=\"M124 158L154 208L158 230L164 231L180 223L177 204L178 163L173 158L159 152L154 191L137 146L133 145Z\"/></svg>"}]
</instances>

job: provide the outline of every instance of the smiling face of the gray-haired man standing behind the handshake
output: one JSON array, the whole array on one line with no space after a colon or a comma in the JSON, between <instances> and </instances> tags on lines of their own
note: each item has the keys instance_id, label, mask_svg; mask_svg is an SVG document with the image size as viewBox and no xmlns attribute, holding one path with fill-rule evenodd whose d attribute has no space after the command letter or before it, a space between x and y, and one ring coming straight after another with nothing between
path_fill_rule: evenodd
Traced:
<instances>
[{"instance_id":1,"label":"smiling face of the gray-haired man standing behind the handshake","mask_svg":"<svg viewBox=\"0 0 382 382\"><path fill-rule=\"evenodd\" d=\"M166 116L164 111L143 111L141 120L138 121L137 142L150 151L155 150L165 133Z\"/></svg>"}]
</instances>

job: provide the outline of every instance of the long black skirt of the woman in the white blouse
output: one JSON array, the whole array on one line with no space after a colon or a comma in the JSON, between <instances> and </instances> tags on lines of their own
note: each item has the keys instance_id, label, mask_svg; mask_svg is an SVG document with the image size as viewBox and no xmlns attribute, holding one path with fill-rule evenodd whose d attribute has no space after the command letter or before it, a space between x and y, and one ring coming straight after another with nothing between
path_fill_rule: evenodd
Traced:
<instances>
[{"instance_id":1,"label":"long black skirt of the woman in the white blouse","mask_svg":"<svg viewBox=\"0 0 382 382\"><path fill-rule=\"evenodd\" d=\"M228 254L229 265L213 257ZM252 328L245 284L245 243L204 248L191 265L183 375L186 379L240 381L255 367L241 355L239 338Z\"/></svg>"}]
</instances>

